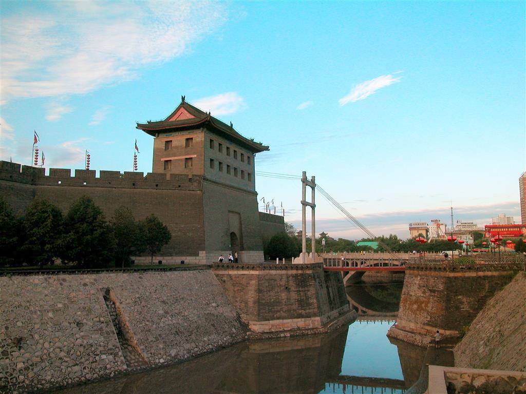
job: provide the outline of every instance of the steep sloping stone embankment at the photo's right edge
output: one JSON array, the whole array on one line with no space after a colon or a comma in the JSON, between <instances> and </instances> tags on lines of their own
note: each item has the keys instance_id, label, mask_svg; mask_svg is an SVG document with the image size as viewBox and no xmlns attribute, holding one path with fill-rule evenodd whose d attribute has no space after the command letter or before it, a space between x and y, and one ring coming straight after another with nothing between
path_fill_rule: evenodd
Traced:
<instances>
[{"instance_id":1,"label":"steep sloping stone embankment at the photo's right edge","mask_svg":"<svg viewBox=\"0 0 526 394\"><path fill-rule=\"evenodd\" d=\"M496 294L454 348L455 365L526 371L526 273Z\"/></svg>"}]
</instances>

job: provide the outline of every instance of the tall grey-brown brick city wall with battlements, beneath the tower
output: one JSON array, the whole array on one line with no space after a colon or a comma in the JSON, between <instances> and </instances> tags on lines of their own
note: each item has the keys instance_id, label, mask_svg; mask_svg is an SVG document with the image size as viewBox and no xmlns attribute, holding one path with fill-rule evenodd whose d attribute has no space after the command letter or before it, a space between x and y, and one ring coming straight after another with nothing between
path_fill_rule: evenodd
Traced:
<instances>
[{"instance_id":1,"label":"tall grey-brown brick city wall with battlements, beneath the tower","mask_svg":"<svg viewBox=\"0 0 526 394\"><path fill-rule=\"evenodd\" d=\"M83 195L89 196L111 219L116 209L126 206L137 220L155 214L171 232L170 242L154 256L165 264L211 263L230 252L229 216L237 215L237 233L244 262L262 262L262 241L257 195L209 181L198 175L143 172L49 169L0 161L0 195L17 214L23 214L33 199L53 202L63 212ZM267 217L267 216L270 216ZM269 220L281 220L281 226ZM266 215L265 233L284 230L282 217ZM233 250L231 252L234 252ZM149 263L150 256L134 257Z\"/></svg>"}]
</instances>

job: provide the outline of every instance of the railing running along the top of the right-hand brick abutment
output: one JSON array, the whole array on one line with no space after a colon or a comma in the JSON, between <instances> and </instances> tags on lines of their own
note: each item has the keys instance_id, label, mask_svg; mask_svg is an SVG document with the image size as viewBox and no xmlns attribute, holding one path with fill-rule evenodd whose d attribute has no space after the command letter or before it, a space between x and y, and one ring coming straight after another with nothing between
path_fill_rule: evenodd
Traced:
<instances>
[{"instance_id":1,"label":"railing running along the top of the right-hand brick abutment","mask_svg":"<svg viewBox=\"0 0 526 394\"><path fill-rule=\"evenodd\" d=\"M461 257L425 256L411 257L407 269L436 271L525 271L526 258L523 255L473 255Z\"/></svg>"}]
</instances>

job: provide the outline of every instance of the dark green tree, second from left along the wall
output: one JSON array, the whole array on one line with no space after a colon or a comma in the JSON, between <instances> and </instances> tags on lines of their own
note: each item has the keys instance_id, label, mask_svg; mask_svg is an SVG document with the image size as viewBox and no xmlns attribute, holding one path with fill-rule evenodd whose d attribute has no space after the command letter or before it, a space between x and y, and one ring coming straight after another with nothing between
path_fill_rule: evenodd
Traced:
<instances>
[{"instance_id":1,"label":"dark green tree, second from left along the wall","mask_svg":"<svg viewBox=\"0 0 526 394\"><path fill-rule=\"evenodd\" d=\"M23 220L25 242L22 254L30 264L52 264L59 253L62 235L62 212L52 203L35 199L28 206Z\"/></svg>"}]
</instances>

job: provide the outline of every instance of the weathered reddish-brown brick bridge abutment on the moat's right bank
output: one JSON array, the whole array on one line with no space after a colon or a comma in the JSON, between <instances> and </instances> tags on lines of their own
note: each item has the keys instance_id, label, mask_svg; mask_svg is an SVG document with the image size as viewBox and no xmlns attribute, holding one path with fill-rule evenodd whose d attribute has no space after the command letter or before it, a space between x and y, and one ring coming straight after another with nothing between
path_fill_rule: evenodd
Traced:
<instances>
[{"instance_id":1,"label":"weathered reddish-brown brick bridge abutment on the moat's right bank","mask_svg":"<svg viewBox=\"0 0 526 394\"><path fill-rule=\"evenodd\" d=\"M429 344L437 330L459 338L485 303L511 281L517 273L513 268L487 264L447 271L408 265L397 323L388 336L419 346Z\"/></svg>"}]
</instances>

